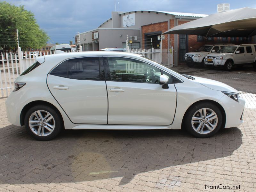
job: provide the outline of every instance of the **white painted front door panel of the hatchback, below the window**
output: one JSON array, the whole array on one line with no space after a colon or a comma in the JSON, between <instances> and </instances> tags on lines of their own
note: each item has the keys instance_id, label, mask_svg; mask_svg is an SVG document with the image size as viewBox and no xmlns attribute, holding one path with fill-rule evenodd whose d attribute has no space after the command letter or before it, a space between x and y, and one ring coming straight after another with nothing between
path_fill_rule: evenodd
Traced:
<instances>
[{"instance_id":1,"label":"white painted front door panel of the hatchback, below the window","mask_svg":"<svg viewBox=\"0 0 256 192\"><path fill-rule=\"evenodd\" d=\"M108 124L170 125L176 109L176 89L168 84L130 83L107 81L107 89L123 89L124 92L108 91Z\"/></svg>"}]
</instances>

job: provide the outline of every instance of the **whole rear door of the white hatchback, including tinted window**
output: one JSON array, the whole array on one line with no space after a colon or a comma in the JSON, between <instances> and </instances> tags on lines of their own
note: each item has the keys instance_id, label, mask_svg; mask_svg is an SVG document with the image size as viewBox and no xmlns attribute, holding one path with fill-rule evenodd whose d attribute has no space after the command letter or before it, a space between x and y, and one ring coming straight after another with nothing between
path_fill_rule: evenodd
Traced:
<instances>
[{"instance_id":1,"label":"whole rear door of the white hatchback, including tinted window","mask_svg":"<svg viewBox=\"0 0 256 192\"><path fill-rule=\"evenodd\" d=\"M107 124L108 96L102 60L70 59L47 76L50 92L73 123Z\"/></svg>"}]
</instances>

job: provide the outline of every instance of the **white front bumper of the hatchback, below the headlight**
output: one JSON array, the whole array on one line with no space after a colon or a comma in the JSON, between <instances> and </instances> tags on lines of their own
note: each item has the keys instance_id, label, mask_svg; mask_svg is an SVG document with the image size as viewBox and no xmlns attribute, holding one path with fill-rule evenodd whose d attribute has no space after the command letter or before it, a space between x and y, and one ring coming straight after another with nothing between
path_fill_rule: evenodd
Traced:
<instances>
[{"instance_id":1,"label":"white front bumper of the hatchback, below the headlight","mask_svg":"<svg viewBox=\"0 0 256 192\"><path fill-rule=\"evenodd\" d=\"M244 122L242 115L244 112L245 100L242 97L239 97L237 102L224 94L219 100L219 103L226 113L225 128L238 127Z\"/></svg>"}]
</instances>

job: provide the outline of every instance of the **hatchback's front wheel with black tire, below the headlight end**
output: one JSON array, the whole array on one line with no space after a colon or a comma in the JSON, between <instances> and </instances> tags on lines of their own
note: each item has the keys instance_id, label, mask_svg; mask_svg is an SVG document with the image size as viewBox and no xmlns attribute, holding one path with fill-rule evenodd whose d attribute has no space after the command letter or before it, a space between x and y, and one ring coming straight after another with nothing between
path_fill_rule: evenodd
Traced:
<instances>
[{"instance_id":1,"label":"hatchback's front wheel with black tire, below the headlight end","mask_svg":"<svg viewBox=\"0 0 256 192\"><path fill-rule=\"evenodd\" d=\"M202 119L206 121L206 123L204 123L203 121L201 122L201 120L195 120L195 121L198 121L198 123L193 122L193 125L192 125L192 117L195 115L197 116L197 111L203 108L207 108L206 110L207 115L213 114L212 112L210 113L210 111L212 110L217 116L217 120L213 119L209 121L211 124L216 125L212 131L209 131L209 129L207 128L207 125L210 126L210 124L208 121L206 121L206 118ZM202 102L202 103L195 104L188 109L186 115L184 116L183 123L185 128L190 134L194 135L197 138L208 138L208 137L212 137L214 134L216 134L220 130L222 126L222 119L223 118L222 118L221 111L216 105L212 103ZM200 125L201 125L201 128L199 128L198 131L202 129L202 133L198 133L195 130Z\"/></svg>"}]
</instances>

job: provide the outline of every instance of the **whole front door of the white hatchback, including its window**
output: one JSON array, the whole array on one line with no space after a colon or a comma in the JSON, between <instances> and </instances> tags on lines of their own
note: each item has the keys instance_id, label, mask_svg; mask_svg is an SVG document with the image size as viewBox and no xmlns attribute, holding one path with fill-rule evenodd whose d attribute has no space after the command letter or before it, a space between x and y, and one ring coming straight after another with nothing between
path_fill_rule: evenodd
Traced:
<instances>
[{"instance_id":1,"label":"whole front door of the white hatchback, including its window","mask_svg":"<svg viewBox=\"0 0 256 192\"><path fill-rule=\"evenodd\" d=\"M176 109L176 89L159 85L163 73L148 63L125 57L104 57L108 90L108 124L169 125ZM107 66L107 68L106 68ZM109 66L109 68L108 68Z\"/></svg>"}]
</instances>

